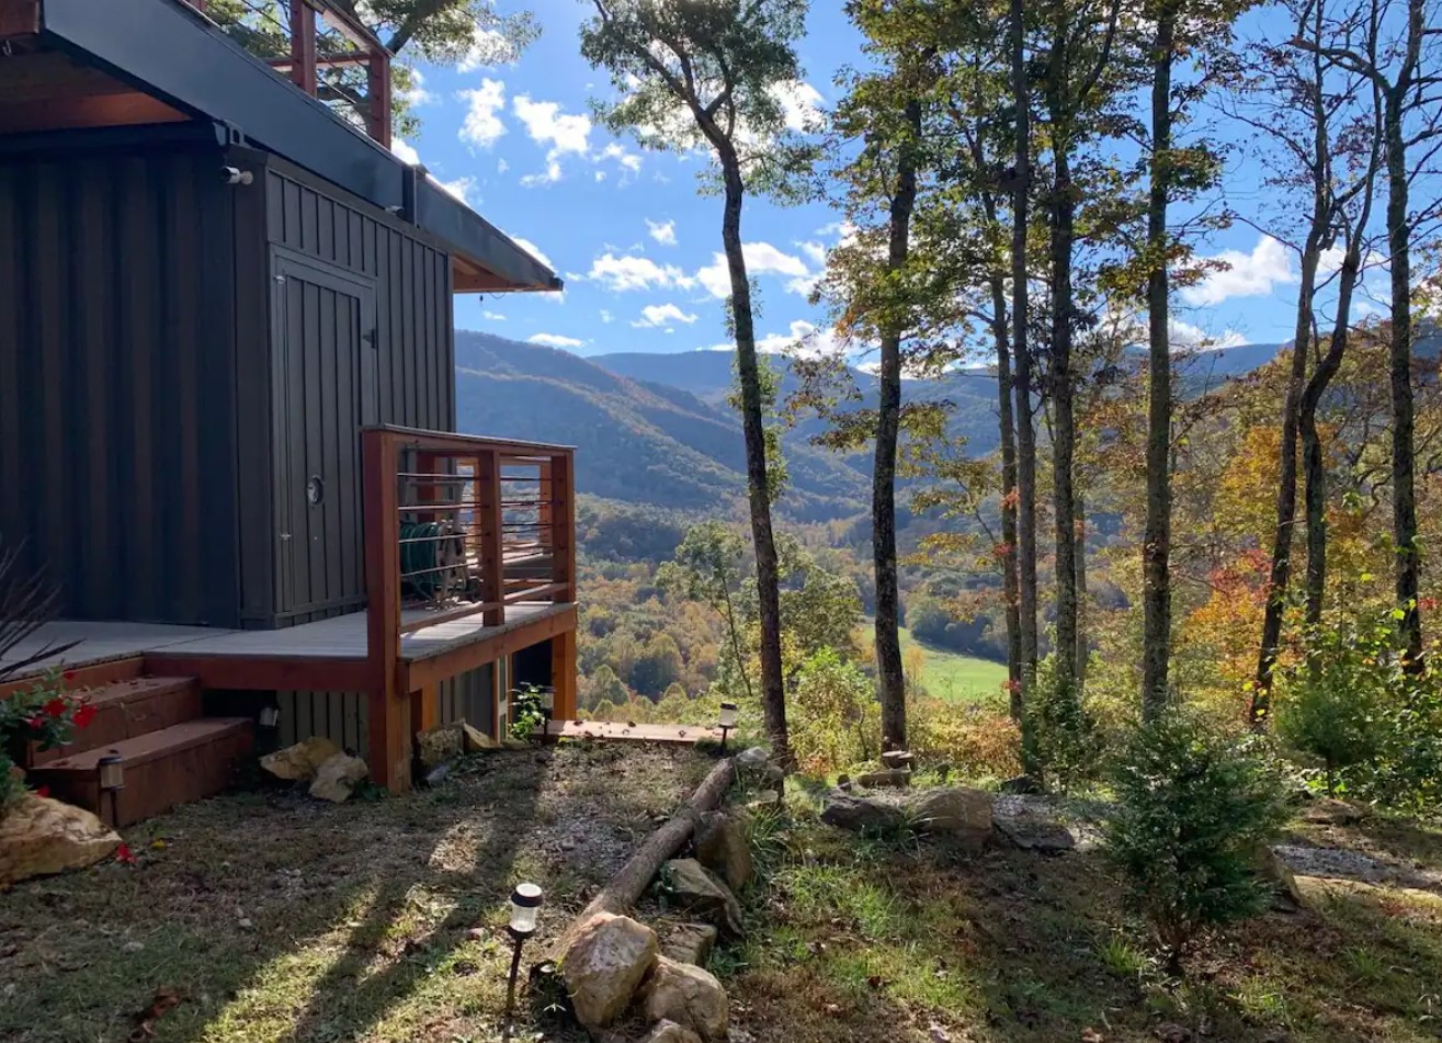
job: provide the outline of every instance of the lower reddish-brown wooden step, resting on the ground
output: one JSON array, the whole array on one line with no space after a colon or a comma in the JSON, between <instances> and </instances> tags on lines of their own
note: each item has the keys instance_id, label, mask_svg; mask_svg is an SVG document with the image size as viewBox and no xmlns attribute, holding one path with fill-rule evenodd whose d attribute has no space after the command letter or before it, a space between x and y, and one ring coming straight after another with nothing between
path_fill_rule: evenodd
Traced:
<instances>
[{"instance_id":1,"label":"lower reddish-brown wooden step, resting on the ground","mask_svg":"<svg viewBox=\"0 0 1442 1043\"><path fill-rule=\"evenodd\" d=\"M49 786L52 796L88 808L111 825L130 825L219 793L254 744L251 718L203 717L52 760L29 772L29 778ZM108 754L124 762L124 788L111 792L99 788L99 759Z\"/></svg>"}]
</instances>

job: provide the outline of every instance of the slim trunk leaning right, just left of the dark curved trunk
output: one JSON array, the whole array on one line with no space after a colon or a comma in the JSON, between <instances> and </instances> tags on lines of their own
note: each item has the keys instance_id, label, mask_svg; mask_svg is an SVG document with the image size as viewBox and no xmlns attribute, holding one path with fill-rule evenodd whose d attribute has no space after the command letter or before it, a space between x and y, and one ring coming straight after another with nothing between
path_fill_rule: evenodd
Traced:
<instances>
[{"instance_id":1,"label":"slim trunk leaning right, just left of the dark curved trunk","mask_svg":"<svg viewBox=\"0 0 1442 1043\"><path fill-rule=\"evenodd\" d=\"M1325 127L1322 127L1325 147ZM1296 329L1292 339L1292 368L1282 402L1282 444L1276 485L1276 532L1272 535L1272 568L1268 576L1268 599L1262 612L1262 649L1252 687L1250 720L1253 729L1266 727L1272 711L1272 674L1276 668L1278 646L1282 642L1282 616L1286 612L1286 589L1292 573L1292 531L1296 528L1296 426L1306 381L1306 359L1312 342L1312 294L1317 287L1317 265L1327 235L1328 211L1318 186L1312 209L1312 226L1302 248L1302 284L1296 300Z\"/></svg>"}]
</instances>

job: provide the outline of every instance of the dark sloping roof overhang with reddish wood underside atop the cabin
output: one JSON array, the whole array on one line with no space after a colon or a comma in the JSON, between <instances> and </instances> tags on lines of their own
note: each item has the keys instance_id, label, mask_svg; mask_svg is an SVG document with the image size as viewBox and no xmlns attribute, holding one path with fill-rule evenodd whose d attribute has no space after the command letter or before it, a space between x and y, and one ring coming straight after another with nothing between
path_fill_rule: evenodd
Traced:
<instances>
[{"instance_id":1,"label":"dark sloping roof overhang with reddish wood underside atop the cabin","mask_svg":"<svg viewBox=\"0 0 1442 1043\"><path fill-rule=\"evenodd\" d=\"M500 229L369 137L247 53L203 14L179 0L0 0L0 39L32 39L35 53L6 62L66 62L66 104L84 118L58 118L63 107L36 92L39 63L20 76L30 84L33 114L0 131L211 120L232 144L252 144L324 177L443 241L451 251L457 293L559 290L561 280ZM87 85L87 79L91 82ZM128 89L125 89L128 88ZM43 114L49 113L49 117Z\"/></svg>"}]
</instances>

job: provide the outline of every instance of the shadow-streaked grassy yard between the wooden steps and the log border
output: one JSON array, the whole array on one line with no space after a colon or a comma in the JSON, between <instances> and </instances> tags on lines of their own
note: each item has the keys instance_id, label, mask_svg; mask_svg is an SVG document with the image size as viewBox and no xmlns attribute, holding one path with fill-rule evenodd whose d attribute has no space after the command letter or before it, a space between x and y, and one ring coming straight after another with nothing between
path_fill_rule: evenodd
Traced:
<instances>
[{"instance_id":1,"label":"shadow-streaked grassy yard between the wooden steps and the log border","mask_svg":"<svg viewBox=\"0 0 1442 1043\"><path fill-rule=\"evenodd\" d=\"M0 1040L123 1040L160 988L180 1004L156 1043L489 1039L512 886L547 887L554 935L694 785L668 762L671 785L643 786L634 756L492 754L398 799L241 792L128 829L137 864L0 894ZM572 822L585 835L562 851Z\"/></svg>"}]
</instances>

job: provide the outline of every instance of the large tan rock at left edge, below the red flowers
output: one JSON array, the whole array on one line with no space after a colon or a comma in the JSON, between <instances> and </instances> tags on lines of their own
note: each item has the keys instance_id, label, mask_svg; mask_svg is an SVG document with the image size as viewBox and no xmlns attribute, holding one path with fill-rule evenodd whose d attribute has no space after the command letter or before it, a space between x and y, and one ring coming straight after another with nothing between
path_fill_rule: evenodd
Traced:
<instances>
[{"instance_id":1,"label":"large tan rock at left edge, below the red flowers","mask_svg":"<svg viewBox=\"0 0 1442 1043\"><path fill-rule=\"evenodd\" d=\"M84 808L25 793L0 812L0 889L94 866L120 835Z\"/></svg>"}]
</instances>

